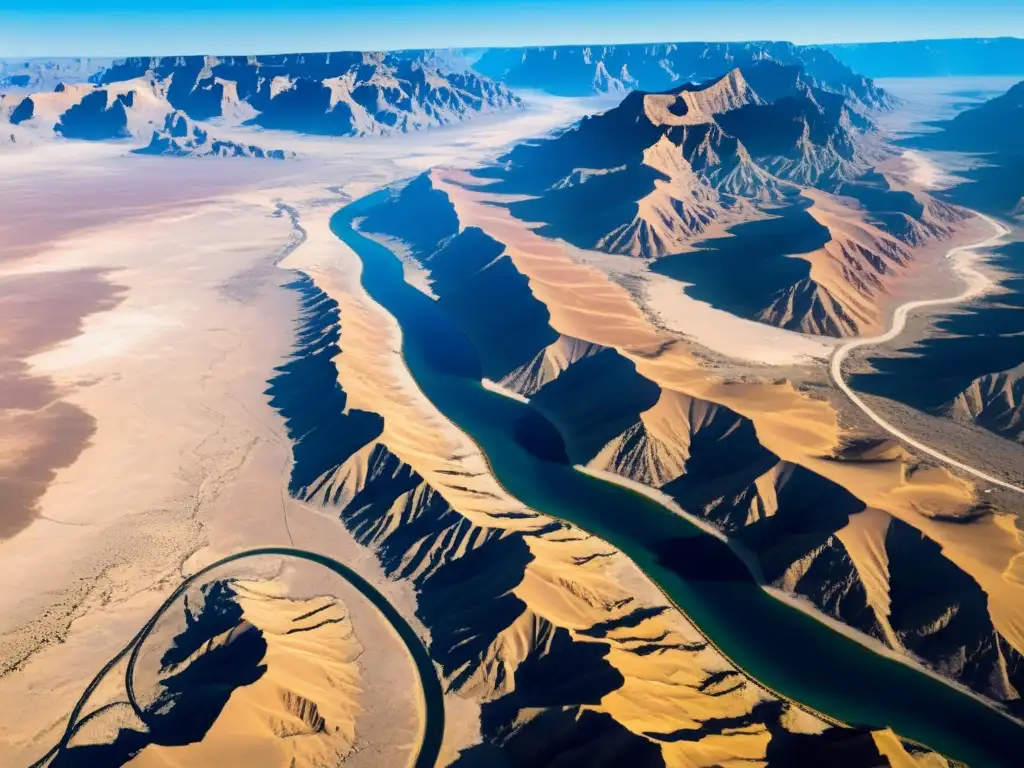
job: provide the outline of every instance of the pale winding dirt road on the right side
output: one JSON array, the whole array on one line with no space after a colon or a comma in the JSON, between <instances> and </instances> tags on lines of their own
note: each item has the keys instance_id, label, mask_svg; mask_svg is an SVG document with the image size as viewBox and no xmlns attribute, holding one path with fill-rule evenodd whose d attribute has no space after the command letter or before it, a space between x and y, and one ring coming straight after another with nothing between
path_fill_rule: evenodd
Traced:
<instances>
[{"instance_id":1,"label":"pale winding dirt road on the right side","mask_svg":"<svg viewBox=\"0 0 1024 768\"><path fill-rule=\"evenodd\" d=\"M975 269L968 263L965 263L963 261L955 261L955 257L958 254L967 253L968 251L975 251L981 248L992 248L993 246L998 245L999 242L1010 233L1010 230L1002 224L1000 224L998 221L989 216L985 216L984 214L977 212L975 213L975 215L978 216L978 218L982 219L983 221L987 222L993 229L995 229L996 233L993 234L991 238L981 241L980 243L975 243L970 246L957 246L956 248L950 249L946 253L947 259L954 259L953 267L955 271L967 283L967 288L965 288L964 291L962 291L957 295L950 296L944 299L923 299L920 301L909 301L906 304L900 304L900 306L896 308L896 312L893 314L892 327L886 333L882 334L881 336L872 336L867 339L851 339L850 341L847 341L846 343L837 346L836 351L833 352L831 361L828 367L828 372L831 375L833 381L836 382L836 386L846 393L846 396L853 401L853 404L855 404L857 408L863 411L864 414L871 421L873 421L884 430L889 432L889 434L891 434L893 437L902 440L908 445L912 445L918 451L921 451L923 454L928 454L933 459L937 459L938 461L943 462L944 464L948 464L951 467L961 469L967 472L968 474L972 474L975 477L984 480L985 482L990 482L993 485L998 485L1009 490L1015 490L1018 494L1024 494L1024 487L1021 487L1019 485L1014 485L1012 482L1000 480L997 477L992 477L991 475L982 472L980 469L975 469L974 467L965 464L964 462L957 461L952 457L946 456L945 454L940 453L939 451L936 451L935 449L929 445L926 445L924 442L914 439L905 432L900 431L892 424L887 422L885 419L883 419L881 416L879 416L877 413L871 411L870 407L868 407L868 404L864 402L853 391L853 389L851 389L847 385L846 381L844 381L843 379L843 360L846 359L846 356L851 351L857 349L858 347L871 346L872 344L883 344L887 341L895 339L897 336L903 333L903 329L906 327L906 321L907 317L910 315L910 312L914 311L915 309L921 309L922 307L927 307L927 306L956 304L962 301L972 299L984 291L984 287L988 283L988 280L985 278L985 275L979 272L977 269Z\"/></svg>"}]
</instances>

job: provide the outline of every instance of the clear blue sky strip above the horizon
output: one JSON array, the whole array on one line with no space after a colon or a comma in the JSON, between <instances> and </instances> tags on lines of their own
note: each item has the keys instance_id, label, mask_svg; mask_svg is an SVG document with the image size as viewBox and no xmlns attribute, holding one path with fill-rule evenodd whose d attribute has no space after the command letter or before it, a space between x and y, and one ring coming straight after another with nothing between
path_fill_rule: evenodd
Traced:
<instances>
[{"instance_id":1,"label":"clear blue sky strip above the horizon","mask_svg":"<svg viewBox=\"0 0 1024 768\"><path fill-rule=\"evenodd\" d=\"M1024 0L0 0L0 57L1024 37Z\"/></svg>"}]
</instances>

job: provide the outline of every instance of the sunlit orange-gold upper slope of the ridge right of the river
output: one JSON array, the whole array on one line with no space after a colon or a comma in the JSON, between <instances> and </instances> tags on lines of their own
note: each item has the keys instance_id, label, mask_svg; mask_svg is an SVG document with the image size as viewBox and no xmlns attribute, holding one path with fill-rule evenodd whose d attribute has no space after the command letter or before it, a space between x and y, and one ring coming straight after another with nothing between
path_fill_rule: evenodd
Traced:
<instances>
[{"instance_id":1,"label":"sunlit orange-gold upper slope of the ridge right of the river","mask_svg":"<svg viewBox=\"0 0 1024 768\"><path fill-rule=\"evenodd\" d=\"M957 521L975 504L974 487L944 469L911 471L908 458L850 461L836 411L791 383L724 382L701 368L679 337L650 325L632 297L598 268L574 262L557 243L514 219L471 184L467 174L432 173L463 226L478 226L507 246L559 333L613 347L664 390L726 406L754 422L760 442L780 459L850 490L866 506L916 528L988 596L996 630L1024 651L1024 544L1014 520L985 514Z\"/></svg>"}]
</instances>

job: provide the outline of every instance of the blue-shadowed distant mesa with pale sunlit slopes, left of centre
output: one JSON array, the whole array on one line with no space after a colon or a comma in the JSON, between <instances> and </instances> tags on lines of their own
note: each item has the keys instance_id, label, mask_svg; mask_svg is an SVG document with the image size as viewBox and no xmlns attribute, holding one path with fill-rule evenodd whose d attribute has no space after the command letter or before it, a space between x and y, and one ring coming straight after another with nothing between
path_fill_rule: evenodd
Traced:
<instances>
[{"instance_id":1,"label":"blue-shadowed distant mesa with pale sunlit slopes, left of centre","mask_svg":"<svg viewBox=\"0 0 1024 768\"><path fill-rule=\"evenodd\" d=\"M307 134L383 135L521 106L504 85L447 69L427 53L127 58L89 80L0 96L0 118L16 127L11 140L56 133L147 141L175 116Z\"/></svg>"}]
</instances>

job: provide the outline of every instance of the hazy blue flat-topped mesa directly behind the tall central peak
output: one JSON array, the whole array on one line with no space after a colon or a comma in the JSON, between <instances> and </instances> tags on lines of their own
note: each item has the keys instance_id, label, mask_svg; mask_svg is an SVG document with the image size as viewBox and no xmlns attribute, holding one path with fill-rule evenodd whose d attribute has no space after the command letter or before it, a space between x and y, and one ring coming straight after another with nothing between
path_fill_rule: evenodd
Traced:
<instances>
[{"instance_id":1,"label":"hazy blue flat-topped mesa directly behind the tall central peak","mask_svg":"<svg viewBox=\"0 0 1024 768\"><path fill-rule=\"evenodd\" d=\"M634 88L659 91L681 81L711 80L736 67L764 60L800 67L809 84L849 96L866 106L887 106L892 102L884 90L855 74L828 51L784 42L493 48L483 53L475 67L512 88L580 96Z\"/></svg>"}]
</instances>

